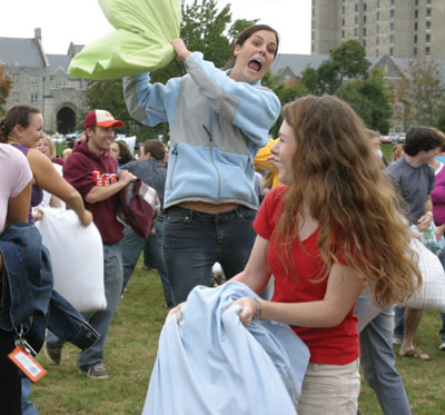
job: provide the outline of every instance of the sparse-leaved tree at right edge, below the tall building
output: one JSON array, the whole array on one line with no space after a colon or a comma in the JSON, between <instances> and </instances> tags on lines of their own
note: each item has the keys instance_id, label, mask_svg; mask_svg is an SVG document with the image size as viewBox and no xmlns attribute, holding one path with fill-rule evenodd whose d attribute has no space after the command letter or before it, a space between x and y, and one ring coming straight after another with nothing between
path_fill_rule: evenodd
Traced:
<instances>
[{"instance_id":1,"label":"sparse-leaved tree at right edge, below the tall building","mask_svg":"<svg viewBox=\"0 0 445 415\"><path fill-rule=\"evenodd\" d=\"M443 68L432 59L416 59L395 86L396 118L405 129L414 125L436 127L445 107Z\"/></svg>"}]
</instances>

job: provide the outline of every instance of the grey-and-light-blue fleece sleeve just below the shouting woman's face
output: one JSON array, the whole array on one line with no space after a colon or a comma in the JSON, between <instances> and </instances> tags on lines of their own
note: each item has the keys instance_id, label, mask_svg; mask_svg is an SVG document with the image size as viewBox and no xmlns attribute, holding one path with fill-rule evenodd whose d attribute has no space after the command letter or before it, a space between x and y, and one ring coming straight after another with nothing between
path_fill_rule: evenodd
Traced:
<instances>
[{"instance_id":1,"label":"grey-and-light-blue fleece sleeve just below the shouting woman's face","mask_svg":"<svg viewBox=\"0 0 445 415\"><path fill-rule=\"evenodd\" d=\"M259 82L249 85L233 80L227 72L205 61L200 52L189 56L186 69L220 116L240 128L258 147L266 146L269 129L281 108L270 89Z\"/></svg>"}]
</instances>

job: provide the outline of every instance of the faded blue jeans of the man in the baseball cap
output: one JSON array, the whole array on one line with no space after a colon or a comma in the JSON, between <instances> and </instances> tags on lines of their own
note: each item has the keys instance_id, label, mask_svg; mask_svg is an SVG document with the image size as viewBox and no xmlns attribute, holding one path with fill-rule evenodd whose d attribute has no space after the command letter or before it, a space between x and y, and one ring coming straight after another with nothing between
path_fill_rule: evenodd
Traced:
<instances>
[{"instance_id":1,"label":"faded blue jeans of the man in the baseball cap","mask_svg":"<svg viewBox=\"0 0 445 415\"><path fill-rule=\"evenodd\" d=\"M103 245L103 284L107 308L85 314L85 318L96 328L100 337L90 347L79 354L77 365L80 368L87 368L103 362L108 329L118 309L122 280L122 253L120 244ZM65 342L53 333L48 332L47 343L51 347L61 348Z\"/></svg>"}]
</instances>

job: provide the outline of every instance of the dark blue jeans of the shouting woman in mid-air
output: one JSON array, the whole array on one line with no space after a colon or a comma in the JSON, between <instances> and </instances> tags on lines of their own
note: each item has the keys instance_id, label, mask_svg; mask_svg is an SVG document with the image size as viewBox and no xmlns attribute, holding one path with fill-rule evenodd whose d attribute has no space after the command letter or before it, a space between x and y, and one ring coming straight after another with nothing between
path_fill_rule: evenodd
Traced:
<instances>
[{"instance_id":1,"label":"dark blue jeans of the shouting woman in mid-air","mask_svg":"<svg viewBox=\"0 0 445 415\"><path fill-rule=\"evenodd\" d=\"M244 269L256 237L256 214L243 206L216 215L177 206L165 211L164 258L175 304L197 285L210 286L215 263L227 279Z\"/></svg>"}]
</instances>

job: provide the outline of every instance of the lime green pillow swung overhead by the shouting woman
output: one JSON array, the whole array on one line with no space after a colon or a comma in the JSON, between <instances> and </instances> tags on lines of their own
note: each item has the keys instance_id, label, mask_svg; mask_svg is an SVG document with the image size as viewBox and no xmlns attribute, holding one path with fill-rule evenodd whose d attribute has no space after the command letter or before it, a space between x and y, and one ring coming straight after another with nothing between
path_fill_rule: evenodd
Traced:
<instances>
[{"instance_id":1,"label":"lime green pillow swung overhead by the shouting woman","mask_svg":"<svg viewBox=\"0 0 445 415\"><path fill-rule=\"evenodd\" d=\"M68 72L106 80L164 68L175 58L170 40L179 38L180 0L99 0L115 32L87 45Z\"/></svg>"}]
</instances>

